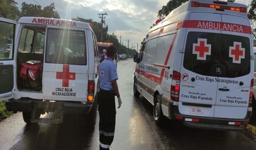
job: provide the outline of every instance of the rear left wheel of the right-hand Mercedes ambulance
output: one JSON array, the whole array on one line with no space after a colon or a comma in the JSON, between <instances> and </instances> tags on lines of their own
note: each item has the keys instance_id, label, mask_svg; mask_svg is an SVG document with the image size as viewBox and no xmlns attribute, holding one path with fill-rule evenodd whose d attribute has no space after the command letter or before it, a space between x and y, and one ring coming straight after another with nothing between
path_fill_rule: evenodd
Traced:
<instances>
[{"instance_id":1,"label":"rear left wheel of the right-hand Mercedes ambulance","mask_svg":"<svg viewBox=\"0 0 256 150\"><path fill-rule=\"evenodd\" d=\"M160 101L160 96L159 94L157 94L155 96L155 100L154 100L154 121L157 125L160 125L163 122L163 112L162 112L162 108L161 108L161 101Z\"/></svg>"}]
</instances>

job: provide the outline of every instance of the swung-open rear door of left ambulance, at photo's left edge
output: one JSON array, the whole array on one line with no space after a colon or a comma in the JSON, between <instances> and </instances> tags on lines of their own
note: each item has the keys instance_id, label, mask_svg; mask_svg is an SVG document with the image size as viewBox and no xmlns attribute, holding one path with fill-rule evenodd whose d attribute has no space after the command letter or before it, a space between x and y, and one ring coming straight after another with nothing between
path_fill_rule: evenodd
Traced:
<instances>
[{"instance_id":1,"label":"swung-open rear door of left ambulance, at photo's left edge","mask_svg":"<svg viewBox=\"0 0 256 150\"><path fill-rule=\"evenodd\" d=\"M14 77L16 76L14 57L14 37L16 22L0 18L0 100L13 98L15 91ZM9 48L6 45L12 45Z\"/></svg>"}]
</instances>

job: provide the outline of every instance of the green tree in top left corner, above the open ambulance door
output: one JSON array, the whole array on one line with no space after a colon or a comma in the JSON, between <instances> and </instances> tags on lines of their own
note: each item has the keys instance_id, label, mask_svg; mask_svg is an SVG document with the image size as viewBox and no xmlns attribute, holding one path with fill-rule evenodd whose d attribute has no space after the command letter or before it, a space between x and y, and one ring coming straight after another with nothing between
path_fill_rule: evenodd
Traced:
<instances>
[{"instance_id":1,"label":"green tree in top left corner, above the open ambulance door","mask_svg":"<svg viewBox=\"0 0 256 150\"><path fill-rule=\"evenodd\" d=\"M20 11L16 4L13 0L1 0L0 17L12 20L19 19Z\"/></svg>"}]
</instances>

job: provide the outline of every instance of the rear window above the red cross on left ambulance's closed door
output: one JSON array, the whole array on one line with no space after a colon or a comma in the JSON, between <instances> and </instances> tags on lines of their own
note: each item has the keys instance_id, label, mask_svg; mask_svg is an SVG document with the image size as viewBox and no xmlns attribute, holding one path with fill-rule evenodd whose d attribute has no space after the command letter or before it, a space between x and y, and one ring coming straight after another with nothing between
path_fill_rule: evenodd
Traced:
<instances>
[{"instance_id":1,"label":"rear window above the red cross on left ambulance's closed door","mask_svg":"<svg viewBox=\"0 0 256 150\"><path fill-rule=\"evenodd\" d=\"M46 63L86 65L84 31L48 29Z\"/></svg>"}]
</instances>

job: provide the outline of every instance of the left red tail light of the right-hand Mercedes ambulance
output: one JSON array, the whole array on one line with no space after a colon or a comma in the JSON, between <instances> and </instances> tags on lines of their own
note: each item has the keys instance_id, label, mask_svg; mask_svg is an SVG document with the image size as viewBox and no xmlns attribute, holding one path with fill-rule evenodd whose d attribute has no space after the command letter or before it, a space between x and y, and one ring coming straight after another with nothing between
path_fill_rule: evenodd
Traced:
<instances>
[{"instance_id":1,"label":"left red tail light of the right-hand Mercedes ambulance","mask_svg":"<svg viewBox=\"0 0 256 150\"><path fill-rule=\"evenodd\" d=\"M179 101L180 94L180 73L173 71L172 85L171 85L171 100Z\"/></svg>"}]
</instances>

